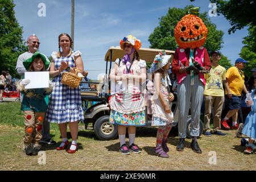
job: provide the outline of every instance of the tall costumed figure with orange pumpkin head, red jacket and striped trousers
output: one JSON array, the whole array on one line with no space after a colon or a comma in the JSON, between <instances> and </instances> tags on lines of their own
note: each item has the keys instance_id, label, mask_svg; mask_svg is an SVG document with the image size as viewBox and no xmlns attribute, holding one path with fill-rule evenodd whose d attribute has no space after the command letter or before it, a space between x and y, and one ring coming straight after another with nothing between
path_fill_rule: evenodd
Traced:
<instances>
[{"instance_id":1,"label":"tall costumed figure with orange pumpkin head, red jacket and striped trousers","mask_svg":"<svg viewBox=\"0 0 256 182\"><path fill-rule=\"evenodd\" d=\"M199 7L191 9L191 13L183 16L175 27L175 40L179 47L172 60L172 72L177 76L177 104L179 109L179 143L177 151L183 151L187 137L187 117L191 108L191 132L193 137L191 148L201 153L197 137L200 131L200 109L203 102L205 78L209 71L210 58L203 47L207 38L207 27L197 16Z\"/></svg>"}]
</instances>

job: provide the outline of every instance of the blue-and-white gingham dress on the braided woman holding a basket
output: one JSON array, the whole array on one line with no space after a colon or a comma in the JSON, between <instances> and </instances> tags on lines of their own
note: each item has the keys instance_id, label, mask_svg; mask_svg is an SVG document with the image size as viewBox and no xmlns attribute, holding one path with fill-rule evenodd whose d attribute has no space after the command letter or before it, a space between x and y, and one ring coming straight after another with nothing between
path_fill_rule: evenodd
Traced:
<instances>
[{"instance_id":1,"label":"blue-and-white gingham dress on the braided woman holding a basket","mask_svg":"<svg viewBox=\"0 0 256 182\"><path fill-rule=\"evenodd\" d=\"M74 56L79 56L79 51L73 52L68 57L56 57L56 52L52 53L52 58L55 63L55 69L60 68L62 61L67 62L68 66L75 66ZM61 76L65 71L53 78L53 90L49 96L49 106L46 113L48 122L67 123L75 121L83 121L84 115L82 111L82 100L80 88L72 88L61 83Z\"/></svg>"}]
</instances>

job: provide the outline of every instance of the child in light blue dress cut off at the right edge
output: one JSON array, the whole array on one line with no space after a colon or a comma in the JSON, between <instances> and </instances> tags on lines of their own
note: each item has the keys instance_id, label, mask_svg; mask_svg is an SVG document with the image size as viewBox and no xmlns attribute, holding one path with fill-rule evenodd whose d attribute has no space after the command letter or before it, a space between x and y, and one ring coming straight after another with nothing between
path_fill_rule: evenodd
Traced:
<instances>
[{"instance_id":1,"label":"child in light blue dress cut off at the right edge","mask_svg":"<svg viewBox=\"0 0 256 182\"><path fill-rule=\"evenodd\" d=\"M245 120L245 126L243 126L242 134L249 137L249 143L246 144L245 154L251 154L255 148L254 141L256 138L256 79L254 80L254 89L251 90L252 100L247 100L246 104L251 106L251 111L247 115Z\"/></svg>"}]
</instances>

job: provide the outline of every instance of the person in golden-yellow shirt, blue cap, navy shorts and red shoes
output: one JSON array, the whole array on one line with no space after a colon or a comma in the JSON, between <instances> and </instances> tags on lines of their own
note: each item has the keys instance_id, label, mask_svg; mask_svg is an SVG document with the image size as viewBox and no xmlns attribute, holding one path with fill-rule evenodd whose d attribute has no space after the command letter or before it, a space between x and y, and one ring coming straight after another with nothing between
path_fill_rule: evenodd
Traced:
<instances>
[{"instance_id":1,"label":"person in golden-yellow shirt, blue cap, navy shorts and red shoes","mask_svg":"<svg viewBox=\"0 0 256 182\"><path fill-rule=\"evenodd\" d=\"M221 120L221 125L225 127L225 129L230 129L228 125L230 117L232 117L233 120L231 129L238 129L237 117L238 110L241 108L241 94L242 91L245 92L246 95L249 94L245 86L245 74L242 71L242 69L245 68L245 63L248 62L242 58L238 58L235 62L235 66L229 68L226 72L226 80L228 81L230 92L228 92L228 90L225 91L229 111L226 117Z\"/></svg>"}]
</instances>

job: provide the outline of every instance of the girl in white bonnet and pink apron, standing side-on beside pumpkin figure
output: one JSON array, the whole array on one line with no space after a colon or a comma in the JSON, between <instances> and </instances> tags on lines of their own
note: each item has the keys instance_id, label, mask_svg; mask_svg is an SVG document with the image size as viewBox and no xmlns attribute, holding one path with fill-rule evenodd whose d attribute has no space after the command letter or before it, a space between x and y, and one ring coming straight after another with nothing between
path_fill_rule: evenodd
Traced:
<instances>
[{"instance_id":1,"label":"girl in white bonnet and pink apron, standing side-on beside pumpkin figure","mask_svg":"<svg viewBox=\"0 0 256 182\"><path fill-rule=\"evenodd\" d=\"M165 51L155 56L152 63L152 76L154 82L154 95L151 97L152 126L159 126L156 134L155 152L162 158L168 158L167 138L172 128L174 114L171 111L171 101L174 100L174 94L170 93L169 85L171 80L168 76L170 68L170 55Z\"/></svg>"}]
</instances>

